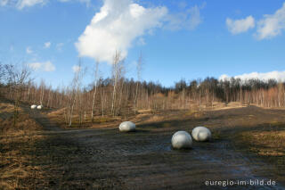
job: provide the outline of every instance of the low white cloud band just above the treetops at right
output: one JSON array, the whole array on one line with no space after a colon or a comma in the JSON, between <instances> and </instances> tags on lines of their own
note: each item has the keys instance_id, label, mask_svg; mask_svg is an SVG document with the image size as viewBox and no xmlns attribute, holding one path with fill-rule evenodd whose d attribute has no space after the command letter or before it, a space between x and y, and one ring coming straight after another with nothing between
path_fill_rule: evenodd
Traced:
<instances>
[{"instance_id":1,"label":"low white cloud band just above the treetops at right","mask_svg":"<svg viewBox=\"0 0 285 190\"><path fill-rule=\"evenodd\" d=\"M228 75L221 75L219 79L230 79L231 77ZM242 75L234 76L233 78L240 78L241 80L247 79L260 79L260 80L268 80L268 79L275 79L277 81L285 81L285 71L272 71L272 72L251 72L245 73Z\"/></svg>"}]
</instances>

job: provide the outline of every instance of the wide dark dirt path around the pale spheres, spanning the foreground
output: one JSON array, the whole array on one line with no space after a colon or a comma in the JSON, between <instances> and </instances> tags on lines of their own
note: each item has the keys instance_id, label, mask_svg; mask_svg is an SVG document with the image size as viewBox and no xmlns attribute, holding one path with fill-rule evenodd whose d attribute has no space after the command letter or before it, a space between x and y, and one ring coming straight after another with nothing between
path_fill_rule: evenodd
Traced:
<instances>
[{"instance_id":1,"label":"wide dark dirt path around the pale spheres, spanning the foreground","mask_svg":"<svg viewBox=\"0 0 285 190\"><path fill-rule=\"evenodd\" d=\"M40 112L31 112L46 131L37 146L38 164L45 166L45 183L58 189L285 189L276 186L206 186L205 183L250 183L275 180L274 168L248 153L239 153L227 136L238 130L264 128L285 122L284 111L256 107L208 113L204 118L172 120L137 126L135 133L118 128L63 130ZM189 151L174 151L170 139L176 130L206 125L222 137L194 142ZM232 181L232 182L231 182ZM217 183L217 182L216 182Z\"/></svg>"}]
</instances>

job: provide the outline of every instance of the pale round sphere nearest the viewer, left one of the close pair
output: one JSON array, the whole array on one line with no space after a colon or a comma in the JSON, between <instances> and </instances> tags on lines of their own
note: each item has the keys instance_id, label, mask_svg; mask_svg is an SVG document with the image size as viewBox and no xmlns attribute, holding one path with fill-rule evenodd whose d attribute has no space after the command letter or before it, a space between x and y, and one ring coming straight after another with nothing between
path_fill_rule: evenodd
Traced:
<instances>
[{"instance_id":1,"label":"pale round sphere nearest the viewer, left one of the close pair","mask_svg":"<svg viewBox=\"0 0 285 190\"><path fill-rule=\"evenodd\" d=\"M186 131L177 131L171 139L172 147L175 149L191 148L192 138Z\"/></svg>"}]
</instances>

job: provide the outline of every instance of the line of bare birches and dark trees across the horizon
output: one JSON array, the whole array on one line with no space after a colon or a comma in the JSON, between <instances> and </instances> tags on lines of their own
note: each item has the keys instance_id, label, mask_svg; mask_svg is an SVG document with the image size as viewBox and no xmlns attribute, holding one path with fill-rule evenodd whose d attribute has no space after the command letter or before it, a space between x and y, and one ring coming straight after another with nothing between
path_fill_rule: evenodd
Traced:
<instances>
[{"instance_id":1,"label":"line of bare birches and dark trees across the horizon","mask_svg":"<svg viewBox=\"0 0 285 190\"><path fill-rule=\"evenodd\" d=\"M69 86L55 89L46 85L44 80L35 83L27 66L0 63L0 93L14 101L15 115L20 102L43 104L45 108L62 109L69 126L73 120L93 122L95 117L130 116L142 110L202 111L213 109L215 103L285 106L285 84L274 79L181 79L174 87L163 87L157 82L142 80L142 62L141 55L137 61L137 80L125 78L124 59L117 53L112 62L111 77L101 76L99 62L96 62L94 80L88 85L83 84L85 69L79 62L80 70L74 73Z\"/></svg>"}]
</instances>

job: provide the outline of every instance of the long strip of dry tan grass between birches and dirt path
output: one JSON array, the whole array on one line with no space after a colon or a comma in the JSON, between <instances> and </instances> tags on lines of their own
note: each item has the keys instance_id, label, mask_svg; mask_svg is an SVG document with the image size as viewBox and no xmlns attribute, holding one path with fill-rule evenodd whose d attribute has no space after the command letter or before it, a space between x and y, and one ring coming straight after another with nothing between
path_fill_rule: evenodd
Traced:
<instances>
[{"instance_id":1,"label":"long strip of dry tan grass between birches and dirt path","mask_svg":"<svg viewBox=\"0 0 285 190\"><path fill-rule=\"evenodd\" d=\"M228 103L227 105L225 103L218 103L214 102L213 107L208 103L208 106L206 104L201 105L201 111L199 111L199 105L195 103L191 103L191 110L167 110L167 111L153 111L151 109L148 110L138 110L137 115L128 115L128 116L118 116L116 118L112 116L105 115L102 116L95 116L94 122L91 122L90 113L86 113L86 117L83 117L82 123L79 123L79 116L74 115L72 119L72 128L103 128L103 127L110 127L111 125L114 125L114 123L118 123L122 120L134 120L136 122L159 122L163 120L173 120L175 117L181 118L183 117L188 118L194 118L199 119L205 116L205 112L208 111L219 111L224 109L232 109L232 108L240 108L245 107L239 102L234 103ZM61 128L67 128L66 121L65 121L65 109L59 109L53 112L48 112L47 116L50 120L53 120L55 123L58 124L58 126L61 126Z\"/></svg>"}]
</instances>

